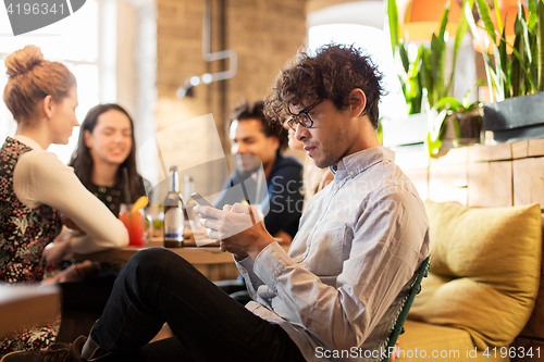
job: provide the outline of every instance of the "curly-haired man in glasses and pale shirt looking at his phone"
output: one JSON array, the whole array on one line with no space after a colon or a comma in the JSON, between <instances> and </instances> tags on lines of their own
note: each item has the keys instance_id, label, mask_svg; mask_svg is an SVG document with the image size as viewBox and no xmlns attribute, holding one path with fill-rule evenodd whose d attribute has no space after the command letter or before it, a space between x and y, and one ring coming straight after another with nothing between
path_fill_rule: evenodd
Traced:
<instances>
[{"instance_id":1,"label":"curly-haired man in glasses and pale shirt looking at his phone","mask_svg":"<svg viewBox=\"0 0 544 362\"><path fill-rule=\"evenodd\" d=\"M115 282L83 357L380 361L430 253L423 203L378 141L380 80L353 46L302 52L281 72L268 114L288 117L316 164L334 173L310 200L288 253L251 207L197 208L210 237L234 254L254 301L242 307L173 252L140 251ZM164 322L175 337L147 345Z\"/></svg>"}]
</instances>

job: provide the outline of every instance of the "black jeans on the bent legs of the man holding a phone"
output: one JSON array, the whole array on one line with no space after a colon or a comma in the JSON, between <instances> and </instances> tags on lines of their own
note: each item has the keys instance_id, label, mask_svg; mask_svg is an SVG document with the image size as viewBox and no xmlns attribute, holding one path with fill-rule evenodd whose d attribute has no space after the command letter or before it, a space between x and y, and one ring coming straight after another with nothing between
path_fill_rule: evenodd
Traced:
<instances>
[{"instance_id":1,"label":"black jeans on the bent legs of the man holding a phone","mask_svg":"<svg viewBox=\"0 0 544 362\"><path fill-rule=\"evenodd\" d=\"M175 338L148 345L165 322ZM110 361L305 361L280 326L162 248L128 261L92 338L115 353Z\"/></svg>"}]
</instances>

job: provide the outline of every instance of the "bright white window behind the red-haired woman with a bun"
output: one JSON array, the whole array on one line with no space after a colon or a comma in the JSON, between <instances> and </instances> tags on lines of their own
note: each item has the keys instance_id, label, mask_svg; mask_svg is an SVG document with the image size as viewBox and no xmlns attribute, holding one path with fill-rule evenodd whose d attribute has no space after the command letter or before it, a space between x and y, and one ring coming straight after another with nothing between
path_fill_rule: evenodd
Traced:
<instances>
[{"instance_id":1,"label":"bright white window behind the red-haired woman with a bun","mask_svg":"<svg viewBox=\"0 0 544 362\"><path fill-rule=\"evenodd\" d=\"M104 1L100 1L102 7ZM65 64L77 79L77 96L79 105L76 109L77 120L83 121L87 111L106 101L100 92L103 73L99 52L99 26L109 26L100 23L99 1L87 0L85 4L72 15L44 28L20 36L5 36L13 34L8 14L0 12L0 89L3 95L8 76L5 75L4 60L10 53L26 45L35 45L41 49L47 60L59 61ZM113 16L114 20L114 16ZM115 37L115 32L111 32ZM114 79L114 76L113 76ZM114 93L114 92L113 92ZM108 99L114 101L114 99ZM16 123L3 103L0 102L0 139L15 134ZM64 163L70 161L72 152L77 145L79 127L74 128L67 146L51 145L49 151L57 153Z\"/></svg>"}]
</instances>

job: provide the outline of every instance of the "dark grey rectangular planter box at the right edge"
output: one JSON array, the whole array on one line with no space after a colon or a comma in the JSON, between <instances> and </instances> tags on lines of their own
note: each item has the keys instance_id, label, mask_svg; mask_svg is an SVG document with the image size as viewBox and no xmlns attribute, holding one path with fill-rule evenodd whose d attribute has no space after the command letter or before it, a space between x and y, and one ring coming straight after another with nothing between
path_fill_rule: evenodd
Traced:
<instances>
[{"instance_id":1,"label":"dark grey rectangular planter box at the right edge","mask_svg":"<svg viewBox=\"0 0 544 362\"><path fill-rule=\"evenodd\" d=\"M496 141L544 137L544 92L508 98L484 105L485 130L493 130Z\"/></svg>"}]
</instances>

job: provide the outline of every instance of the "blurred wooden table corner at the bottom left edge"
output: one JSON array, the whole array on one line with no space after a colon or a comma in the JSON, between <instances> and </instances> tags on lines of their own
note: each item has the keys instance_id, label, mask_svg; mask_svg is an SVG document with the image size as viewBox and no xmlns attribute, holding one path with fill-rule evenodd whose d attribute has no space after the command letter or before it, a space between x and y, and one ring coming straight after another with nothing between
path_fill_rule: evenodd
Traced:
<instances>
[{"instance_id":1,"label":"blurred wooden table corner at the bottom left edge","mask_svg":"<svg viewBox=\"0 0 544 362\"><path fill-rule=\"evenodd\" d=\"M60 298L57 285L0 285L0 339L54 321Z\"/></svg>"}]
</instances>

